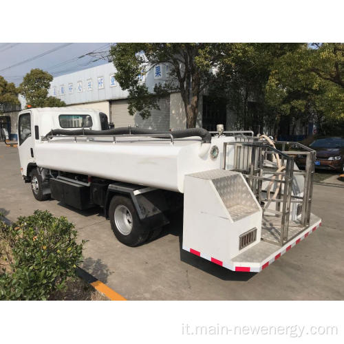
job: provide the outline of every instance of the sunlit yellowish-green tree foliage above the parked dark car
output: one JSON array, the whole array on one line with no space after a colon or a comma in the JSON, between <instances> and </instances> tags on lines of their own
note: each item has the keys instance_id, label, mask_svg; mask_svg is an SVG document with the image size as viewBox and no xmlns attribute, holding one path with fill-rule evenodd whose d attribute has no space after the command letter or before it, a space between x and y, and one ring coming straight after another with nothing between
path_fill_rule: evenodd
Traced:
<instances>
[{"instance_id":1,"label":"sunlit yellowish-green tree foliage above the parked dark car","mask_svg":"<svg viewBox=\"0 0 344 344\"><path fill-rule=\"evenodd\" d=\"M315 49L314 49L315 47ZM343 44L300 45L277 58L266 84L266 102L279 115L315 116L321 129L344 120ZM328 128L328 125L327 125Z\"/></svg>"}]
</instances>

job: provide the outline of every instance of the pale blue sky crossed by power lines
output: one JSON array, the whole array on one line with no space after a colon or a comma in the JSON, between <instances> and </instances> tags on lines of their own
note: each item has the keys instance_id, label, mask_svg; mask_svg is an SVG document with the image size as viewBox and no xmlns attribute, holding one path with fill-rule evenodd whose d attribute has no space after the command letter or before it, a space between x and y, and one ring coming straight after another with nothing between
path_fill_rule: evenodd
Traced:
<instances>
[{"instance_id":1,"label":"pale blue sky crossed by power lines","mask_svg":"<svg viewBox=\"0 0 344 344\"><path fill-rule=\"evenodd\" d=\"M106 52L111 43L0 43L0 75L18 86L33 68L60 76L107 63L89 52ZM99 54L97 54L99 56Z\"/></svg>"}]
</instances>

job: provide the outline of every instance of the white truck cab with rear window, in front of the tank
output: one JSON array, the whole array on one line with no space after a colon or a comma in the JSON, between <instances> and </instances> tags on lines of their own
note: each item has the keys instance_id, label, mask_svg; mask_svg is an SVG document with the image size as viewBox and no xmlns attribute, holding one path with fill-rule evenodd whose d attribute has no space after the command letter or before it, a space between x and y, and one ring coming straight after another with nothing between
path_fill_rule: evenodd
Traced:
<instances>
[{"instance_id":1,"label":"white truck cab with rear window, in front of the tank","mask_svg":"<svg viewBox=\"0 0 344 344\"><path fill-rule=\"evenodd\" d=\"M42 107L25 109L18 116L18 149L21 175L30 182L36 166L35 146L52 129L109 129L107 115L94 109Z\"/></svg>"}]
</instances>

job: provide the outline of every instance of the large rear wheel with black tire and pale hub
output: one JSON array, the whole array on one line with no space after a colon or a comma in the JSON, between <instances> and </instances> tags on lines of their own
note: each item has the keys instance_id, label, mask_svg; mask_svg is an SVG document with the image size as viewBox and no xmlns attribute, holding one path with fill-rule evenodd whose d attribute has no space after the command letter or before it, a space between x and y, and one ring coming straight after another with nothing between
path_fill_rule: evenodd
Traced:
<instances>
[{"instance_id":1,"label":"large rear wheel with black tire and pale hub","mask_svg":"<svg viewBox=\"0 0 344 344\"><path fill-rule=\"evenodd\" d=\"M127 219L122 221L121 217L126 217L126 214ZM138 218L136 208L129 197L119 195L112 197L109 205L109 218L114 235L122 244L133 247L141 245L147 240L149 231ZM129 229L130 226L131 229ZM125 234L127 230L129 233Z\"/></svg>"}]
</instances>

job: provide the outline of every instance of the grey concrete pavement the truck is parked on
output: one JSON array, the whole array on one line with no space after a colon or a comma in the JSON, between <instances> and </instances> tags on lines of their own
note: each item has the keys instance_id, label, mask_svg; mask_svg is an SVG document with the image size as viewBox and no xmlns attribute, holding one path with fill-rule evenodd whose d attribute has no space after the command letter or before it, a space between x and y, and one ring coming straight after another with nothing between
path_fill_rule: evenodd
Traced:
<instances>
[{"instance_id":1,"label":"grey concrete pavement the truck is parked on","mask_svg":"<svg viewBox=\"0 0 344 344\"><path fill-rule=\"evenodd\" d=\"M17 148L0 143L0 211L13 221L35 209L64 215L85 244L83 268L129 300L344 299L344 190L314 186L321 228L259 272L231 272L181 248L182 213L162 236L138 248L120 244L102 210L38 202L21 180Z\"/></svg>"}]
</instances>

